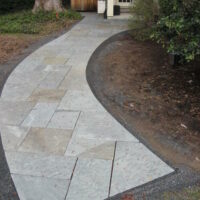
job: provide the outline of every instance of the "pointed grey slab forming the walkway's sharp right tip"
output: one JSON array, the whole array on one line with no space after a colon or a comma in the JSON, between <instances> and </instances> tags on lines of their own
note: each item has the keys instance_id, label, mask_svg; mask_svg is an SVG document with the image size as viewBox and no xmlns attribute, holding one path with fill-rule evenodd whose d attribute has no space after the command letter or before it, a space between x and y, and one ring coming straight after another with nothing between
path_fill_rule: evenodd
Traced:
<instances>
[{"instance_id":1,"label":"pointed grey slab forming the walkway's sharp right tip","mask_svg":"<svg viewBox=\"0 0 200 200\"><path fill-rule=\"evenodd\" d=\"M110 196L173 172L141 143L117 142Z\"/></svg>"}]
</instances>

